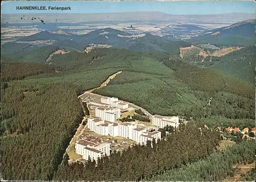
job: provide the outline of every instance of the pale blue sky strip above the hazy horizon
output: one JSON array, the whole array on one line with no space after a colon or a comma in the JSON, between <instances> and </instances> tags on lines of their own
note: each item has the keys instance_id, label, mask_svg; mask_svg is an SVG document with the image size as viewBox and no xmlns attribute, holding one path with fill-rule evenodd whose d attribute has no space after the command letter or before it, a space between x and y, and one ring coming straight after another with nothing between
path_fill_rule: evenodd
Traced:
<instances>
[{"instance_id":1,"label":"pale blue sky strip above the hazy horizon","mask_svg":"<svg viewBox=\"0 0 256 182\"><path fill-rule=\"evenodd\" d=\"M16 10L16 6L46 6L47 10ZM48 7L71 7L71 10L48 10ZM158 11L167 14L255 13L253 1L2 1L2 14L27 13L119 13Z\"/></svg>"}]
</instances>

